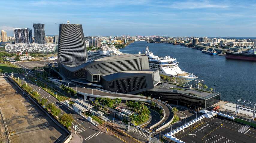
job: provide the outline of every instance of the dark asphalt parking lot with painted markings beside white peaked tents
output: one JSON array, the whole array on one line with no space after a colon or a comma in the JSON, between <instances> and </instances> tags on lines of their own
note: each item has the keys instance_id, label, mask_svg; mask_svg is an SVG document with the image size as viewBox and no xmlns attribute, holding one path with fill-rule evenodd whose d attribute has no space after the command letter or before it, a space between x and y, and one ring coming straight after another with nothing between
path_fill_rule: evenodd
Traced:
<instances>
[{"instance_id":1,"label":"dark asphalt parking lot with painted markings beside white peaked tents","mask_svg":"<svg viewBox=\"0 0 256 143\"><path fill-rule=\"evenodd\" d=\"M175 137L186 143L254 143L256 140L255 128L221 117L204 119L184 131Z\"/></svg>"}]
</instances>

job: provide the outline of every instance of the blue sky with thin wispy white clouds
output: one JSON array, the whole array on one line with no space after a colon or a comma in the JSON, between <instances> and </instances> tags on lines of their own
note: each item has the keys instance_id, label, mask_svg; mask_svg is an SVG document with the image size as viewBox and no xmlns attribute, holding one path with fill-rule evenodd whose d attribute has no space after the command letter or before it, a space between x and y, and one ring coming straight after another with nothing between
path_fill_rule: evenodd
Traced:
<instances>
[{"instance_id":1,"label":"blue sky with thin wispy white clouds","mask_svg":"<svg viewBox=\"0 0 256 143\"><path fill-rule=\"evenodd\" d=\"M0 0L0 30L45 24L58 35L67 20L85 36L256 37L256 0Z\"/></svg>"}]
</instances>

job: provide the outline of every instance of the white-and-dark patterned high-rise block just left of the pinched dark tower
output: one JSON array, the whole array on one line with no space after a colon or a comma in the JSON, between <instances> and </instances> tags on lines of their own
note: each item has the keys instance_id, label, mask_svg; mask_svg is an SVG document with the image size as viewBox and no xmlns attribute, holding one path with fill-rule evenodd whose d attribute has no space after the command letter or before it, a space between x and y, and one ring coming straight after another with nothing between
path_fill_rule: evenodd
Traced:
<instances>
[{"instance_id":1,"label":"white-and-dark patterned high-rise block just left of the pinched dark tower","mask_svg":"<svg viewBox=\"0 0 256 143\"><path fill-rule=\"evenodd\" d=\"M32 29L30 28L13 28L15 43L33 43Z\"/></svg>"}]
</instances>

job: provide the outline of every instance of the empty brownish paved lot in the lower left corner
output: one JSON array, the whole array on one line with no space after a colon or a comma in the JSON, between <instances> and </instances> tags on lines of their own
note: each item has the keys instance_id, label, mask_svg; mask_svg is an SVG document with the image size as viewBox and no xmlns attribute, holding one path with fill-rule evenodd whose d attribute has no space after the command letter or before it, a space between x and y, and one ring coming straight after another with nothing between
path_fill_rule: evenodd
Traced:
<instances>
[{"instance_id":1,"label":"empty brownish paved lot in the lower left corner","mask_svg":"<svg viewBox=\"0 0 256 143\"><path fill-rule=\"evenodd\" d=\"M0 107L11 142L61 142L67 133L6 78L0 78Z\"/></svg>"}]
</instances>

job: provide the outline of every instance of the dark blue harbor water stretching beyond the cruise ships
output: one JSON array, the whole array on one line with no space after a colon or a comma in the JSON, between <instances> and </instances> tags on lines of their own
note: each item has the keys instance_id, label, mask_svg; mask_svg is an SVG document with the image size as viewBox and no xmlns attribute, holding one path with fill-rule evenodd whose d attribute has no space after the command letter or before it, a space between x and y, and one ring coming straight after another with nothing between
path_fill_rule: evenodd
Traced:
<instances>
[{"instance_id":1,"label":"dark blue harbor water stretching beyond the cruise ships","mask_svg":"<svg viewBox=\"0 0 256 143\"><path fill-rule=\"evenodd\" d=\"M236 102L239 98L256 102L256 62L226 59L200 50L167 43L134 42L121 48L123 53L143 53L149 47L154 55L176 58L183 71L204 80L208 88L216 88L221 99ZM191 84L193 81L191 82Z\"/></svg>"}]
</instances>

